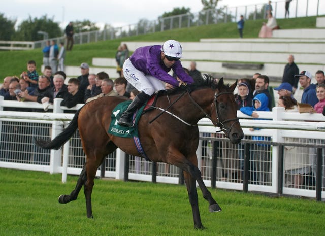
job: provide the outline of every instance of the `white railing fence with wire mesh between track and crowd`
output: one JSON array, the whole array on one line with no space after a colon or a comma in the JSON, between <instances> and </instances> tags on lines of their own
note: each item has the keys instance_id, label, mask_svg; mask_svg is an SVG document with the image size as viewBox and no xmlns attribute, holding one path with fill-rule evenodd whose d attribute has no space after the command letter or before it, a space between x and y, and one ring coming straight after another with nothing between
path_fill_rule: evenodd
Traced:
<instances>
[{"instance_id":1,"label":"white railing fence with wire mesh between track and crowd","mask_svg":"<svg viewBox=\"0 0 325 236\"><path fill-rule=\"evenodd\" d=\"M5 101L0 97L0 167L62 173L62 182L68 174L80 174L85 156L78 132L62 150L42 150L33 143L33 137L56 137L73 117L63 112L82 106L67 109L59 106L60 100L54 99L50 107L53 112L21 112L18 110L26 108L41 111L42 105ZM230 144L224 134L216 134L218 128L208 119L199 122L197 156L206 185L324 199L325 117L286 113L278 107L272 112L259 112L259 115L270 120L251 120L238 112L245 134L238 145ZM262 129L250 131L249 127ZM126 164L129 167L124 173ZM107 156L97 175L152 181L153 166L155 163L128 157L117 149ZM302 169L304 173L299 172ZM155 178L157 182L177 184L179 173L175 166L158 163Z\"/></svg>"}]
</instances>

